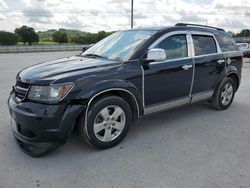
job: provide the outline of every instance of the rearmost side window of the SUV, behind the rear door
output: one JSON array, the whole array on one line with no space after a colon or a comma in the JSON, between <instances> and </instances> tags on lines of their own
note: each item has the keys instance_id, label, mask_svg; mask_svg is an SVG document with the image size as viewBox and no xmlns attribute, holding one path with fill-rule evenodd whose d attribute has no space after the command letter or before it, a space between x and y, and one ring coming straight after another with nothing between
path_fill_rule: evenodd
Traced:
<instances>
[{"instance_id":1,"label":"rearmost side window of the SUV, behind the rear door","mask_svg":"<svg viewBox=\"0 0 250 188\"><path fill-rule=\"evenodd\" d=\"M222 52L230 52L238 50L235 40L227 33L216 34L216 39L220 45Z\"/></svg>"}]
</instances>

